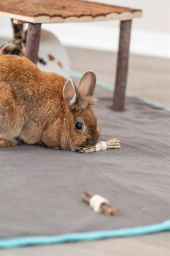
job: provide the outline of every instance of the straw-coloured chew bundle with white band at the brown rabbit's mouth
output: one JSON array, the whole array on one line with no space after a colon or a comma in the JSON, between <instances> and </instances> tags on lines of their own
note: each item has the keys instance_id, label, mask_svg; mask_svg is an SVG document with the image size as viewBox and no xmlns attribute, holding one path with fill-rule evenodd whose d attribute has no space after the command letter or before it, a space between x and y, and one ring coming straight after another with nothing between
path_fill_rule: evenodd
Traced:
<instances>
[{"instance_id":1,"label":"straw-coloured chew bundle with white band at the brown rabbit's mouth","mask_svg":"<svg viewBox=\"0 0 170 256\"><path fill-rule=\"evenodd\" d=\"M117 140L116 138L110 139L107 141L99 141L96 146L89 147L89 148L82 148L79 147L77 149L80 153L89 153L89 152L97 152L100 150L106 150L106 149L120 149L120 140Z\"/></svg>"}]
</instances>

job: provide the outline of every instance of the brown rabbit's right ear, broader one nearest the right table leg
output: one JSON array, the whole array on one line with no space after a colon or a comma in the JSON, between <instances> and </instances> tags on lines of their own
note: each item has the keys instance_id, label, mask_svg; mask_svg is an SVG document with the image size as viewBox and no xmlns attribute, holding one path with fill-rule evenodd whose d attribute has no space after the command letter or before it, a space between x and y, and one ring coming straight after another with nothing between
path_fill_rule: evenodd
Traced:
<instances>
[{"instance_id":1,"label":"brown rabbit's right ear, broader one nearest the right table leg","mask_svg":"<svg viewBox=\"0 0 170 256\"><path fill-rule=\"evenodd\" d=\"M96 85L96 75L89 70L83 74L79 83L78 90L81 96L92 96Z\"/></svg>"}]
</instances>

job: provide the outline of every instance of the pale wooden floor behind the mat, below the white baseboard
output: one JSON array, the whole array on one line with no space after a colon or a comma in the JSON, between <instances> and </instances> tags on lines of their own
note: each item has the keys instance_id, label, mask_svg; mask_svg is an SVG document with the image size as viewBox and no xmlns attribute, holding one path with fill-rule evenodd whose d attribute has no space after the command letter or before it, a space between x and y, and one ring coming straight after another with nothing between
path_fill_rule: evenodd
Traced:
<instances>
[{"instance_id":1,"label":"pale wooden floor behind the mat, below the white baseboard","mask_svg":"<svg viewBox=\"0 0 170 256\"><path fill-rule=\"evenodd\" d=\"M67 52L72 70L81 74L93 70L99 81L114 85L115 53L74 48L67 48ZM131 55L127 91L170 107L169 67L168 59Z\"/></svg>"}]
</instances>

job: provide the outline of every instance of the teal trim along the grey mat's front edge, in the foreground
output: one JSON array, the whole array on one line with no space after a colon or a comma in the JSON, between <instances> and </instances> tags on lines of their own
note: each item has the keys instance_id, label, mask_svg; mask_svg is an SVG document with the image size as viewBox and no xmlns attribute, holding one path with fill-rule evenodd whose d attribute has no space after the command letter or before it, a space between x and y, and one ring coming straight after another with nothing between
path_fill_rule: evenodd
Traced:
<instances>
[{"instance_id":1,"label":"teal trim along the grey mat's front edge, in the foreground","mask_svg":"<svg viewBox=\"0 0 170 256\"><path fill-rule=\"evenodd\" d=\"M53 236L23 236L14 238L3 238L0 241L0 248L21 247L27 245L46 245L46 244L59 244L64 242L76 242L76 241L90 241L96 239L104 239L111 237L123 237L123 236L136 236L145 235L150 233L157 233L170 230L170 219L167 219L161 223L154 225L104 230L104 231L91 231L81 233L70 233L64 235Z\"/></svg>"}]
</instances>

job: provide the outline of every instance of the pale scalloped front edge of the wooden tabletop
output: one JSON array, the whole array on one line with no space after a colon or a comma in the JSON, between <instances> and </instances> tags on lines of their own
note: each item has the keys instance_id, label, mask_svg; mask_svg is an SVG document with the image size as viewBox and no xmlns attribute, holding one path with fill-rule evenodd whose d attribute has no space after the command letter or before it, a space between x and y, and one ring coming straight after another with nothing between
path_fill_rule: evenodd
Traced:
<instances>
[{"instance_id":1,"label":"pale scalloped front edge of the wooden tabletop","mask_svg":"<svg viewBox=\"0 0 170 256\"><path fill-rule=\"evenodd\" d=\"M2 17L8 17L14 19L16 24L24 23L24 22L29 22L29 23L63 23L63 22L94 22L94 21L111 21L111 20L132 20L134 18L141 18L142 17L142 11L135 11L135 12L123 12L121 14L118 14L116 12L109 13L107 15L101 15L98 17L91 17L91 16L82 16L80 18L78 17L69 17L66 19L63 19L61 17L53 17L50 18L49 16L38 16L38 17L27 17L24 15L18 15L18 14L13 14L13 13L8 13L8 12L3 12L0 11L0 15Z\"/></svg>"}]
</instances>

